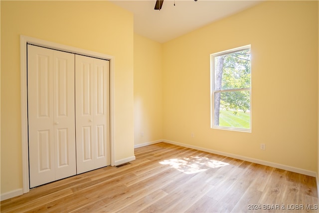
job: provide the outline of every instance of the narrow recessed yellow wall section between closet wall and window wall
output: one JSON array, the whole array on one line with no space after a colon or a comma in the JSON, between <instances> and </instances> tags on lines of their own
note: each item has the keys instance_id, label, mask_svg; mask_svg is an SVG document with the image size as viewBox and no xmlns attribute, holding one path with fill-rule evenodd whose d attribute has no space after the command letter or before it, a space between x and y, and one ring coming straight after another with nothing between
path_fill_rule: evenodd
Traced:
<instances>
[{"instance_id":1,"label":"narrow recessed yellow wall section between closet wall and window wall","mask_svg":"<svg viewBox=\"0 0 319 213\"><path fill-rule=\"evenodd\" d=\"M139 34L134 34L134 118L136 145L162 139L162 44Z\"/></svg>"}]
</instances>

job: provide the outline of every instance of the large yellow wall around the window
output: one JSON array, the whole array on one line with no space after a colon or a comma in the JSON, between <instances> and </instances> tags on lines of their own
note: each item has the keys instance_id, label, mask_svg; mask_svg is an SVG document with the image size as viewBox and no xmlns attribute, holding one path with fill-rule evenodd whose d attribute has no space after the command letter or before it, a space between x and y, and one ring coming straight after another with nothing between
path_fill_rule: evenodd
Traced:
<instances>
[{"instance_id":1,"label":"large yellow wall around the window","mask_svg":"<svg viewBox=\"0 0 319 213\"><path fill-rule=\"evenodd\" d=\"M252 133L211 129L209 55L247 44ZM164 43L163 138L316 172L318 56L318 1L263 2Z\"/></svg>"}]
</instances>

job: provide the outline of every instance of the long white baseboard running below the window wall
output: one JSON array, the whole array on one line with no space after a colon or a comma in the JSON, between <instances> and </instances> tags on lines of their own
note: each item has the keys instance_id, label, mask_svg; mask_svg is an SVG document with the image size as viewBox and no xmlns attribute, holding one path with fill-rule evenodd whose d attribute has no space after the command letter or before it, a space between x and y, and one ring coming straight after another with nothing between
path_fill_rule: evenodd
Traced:
<instances>
[{"instance_id":1,"label":"long white baseboard running below the window wall","mask_svg":"<svg viewBox=\"0 0 319 213\"><path fill-rule=\"evenodd\" d=\"M169 143L169 144L174 144L174 145L178 145L178 146L182 146L182 147L187 147L187 148L191 148L191 149L196 149L196 150L212 153L212 154L222 155L222 156L236 158L239 160L248 161L248 162L252 162L252 163L256 163L256 164L261 164L261 165L275 167L278 169L283 169L283 170L287 170L287 171L291 171L291 172L296 172L296 173L303 174L303 175L308 175L308 176L312 176L312 177L317 176L316 172L314 172L314 171L304 170L304 169L300 169L300 168L296 168L296 167L290 167L287 165L277 164L277 163L273 163L273 162L269 162L269 161L263 161L263 160L259 160L259 159L255 159L255 158L248 158L245 156L235 155L235 154L231 154L231 153L219 152L216 150L206 149L206 148L202 148L202 147L191 146L188 144L178 143L175 141L169 141L169 140L161 140L161 141ZM317 178L317 180L318 180L318 178Z\"/></svg>"}]
</instances>

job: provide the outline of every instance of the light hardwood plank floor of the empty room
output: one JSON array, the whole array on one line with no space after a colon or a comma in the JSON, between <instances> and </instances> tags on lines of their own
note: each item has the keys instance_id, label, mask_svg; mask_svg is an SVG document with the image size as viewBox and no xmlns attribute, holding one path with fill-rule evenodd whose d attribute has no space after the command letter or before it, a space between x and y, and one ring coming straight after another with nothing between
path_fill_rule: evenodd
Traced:
<instances>
[{"instance_id":1,"label":"light hardwood plank floor of the empty room","mask_svg":"<svg viewBox=\"0 0 319 213\"><path fill-rule=\"evenodd\" d=\"M159 143L136 160L46 184L1 202L1 212L317 213L316 179ZM316 210L317 209L317 210Z\"/></svg>"}]
</instances>

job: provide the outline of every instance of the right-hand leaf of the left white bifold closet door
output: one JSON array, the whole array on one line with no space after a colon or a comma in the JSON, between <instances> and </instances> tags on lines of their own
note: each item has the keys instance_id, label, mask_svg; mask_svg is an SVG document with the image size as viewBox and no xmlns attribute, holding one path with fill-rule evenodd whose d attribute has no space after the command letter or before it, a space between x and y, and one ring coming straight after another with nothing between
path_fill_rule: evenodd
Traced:
<instances>
[{"instance_id":1,"label":"right-hand leaf of the left white bifold closet door","mask_svg":"<svg viewBox=\"0 0 319 213\"><path fill-rule=\"evenodd\" d=\"M55 180L76 175L74 57L53 52Z\"/></svg>"}]
</instances>

